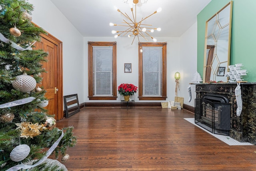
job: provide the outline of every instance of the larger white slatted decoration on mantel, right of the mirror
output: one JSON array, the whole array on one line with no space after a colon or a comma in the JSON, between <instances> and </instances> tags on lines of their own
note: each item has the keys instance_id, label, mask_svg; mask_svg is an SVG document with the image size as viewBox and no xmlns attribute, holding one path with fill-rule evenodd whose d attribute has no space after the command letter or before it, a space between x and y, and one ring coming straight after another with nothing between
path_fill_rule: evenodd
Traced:
<instances>
[{"instance_id":1,"label":"larger white slatted decoration on mantel, right of the mirror","mask_svg":"<svg viewBox=\"0 0 256 171\"><path fill-rule=\"evenodd\" d=\"M242 64L235 64L228 66L229 72L225 75L226 77L229 77L228 82L234 83L234 82L242 82L244 79L242 79L242 76L246 76L248 72L246 70L241 69Z\"/></svg>"}]
</instances>

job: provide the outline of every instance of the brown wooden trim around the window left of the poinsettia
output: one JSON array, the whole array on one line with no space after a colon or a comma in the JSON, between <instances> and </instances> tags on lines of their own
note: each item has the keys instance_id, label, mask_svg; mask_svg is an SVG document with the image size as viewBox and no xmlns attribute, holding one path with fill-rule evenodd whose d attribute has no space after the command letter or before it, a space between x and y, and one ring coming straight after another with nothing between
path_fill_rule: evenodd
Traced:
<instances>
[{"instance_id":1,"label":"brown wooden trim around the window left of the poinsettia","mask_svg":"<svg viewBox=\"0 0 256 171\"><path fill-rule=\"evenodd\" d=\"M92 46L113 46L113 82L112 96L93 96L92 81ZM89 42L88 41L88 97L89 100L116 100L117 99L117 83L116 83L116 42Z\"/></svg>"}]
</instances>

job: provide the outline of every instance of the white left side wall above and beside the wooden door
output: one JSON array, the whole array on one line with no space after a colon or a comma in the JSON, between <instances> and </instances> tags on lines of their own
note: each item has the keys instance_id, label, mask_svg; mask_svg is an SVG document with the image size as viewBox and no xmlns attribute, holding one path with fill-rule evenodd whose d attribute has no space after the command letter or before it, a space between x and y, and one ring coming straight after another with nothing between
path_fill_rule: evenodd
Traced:
<instances>
[{"instance_id":1,"label":"white left side wall above and beside the wooden door","mask_svg":"<svg viewBox=\"0 0 256 171\"><path fill-rule=\"evenodd\" d=\"M29 0L32 22L63 42L63 95L78 94L84 102L83 37L50 0Z\"/></svg>"}]
</instances>

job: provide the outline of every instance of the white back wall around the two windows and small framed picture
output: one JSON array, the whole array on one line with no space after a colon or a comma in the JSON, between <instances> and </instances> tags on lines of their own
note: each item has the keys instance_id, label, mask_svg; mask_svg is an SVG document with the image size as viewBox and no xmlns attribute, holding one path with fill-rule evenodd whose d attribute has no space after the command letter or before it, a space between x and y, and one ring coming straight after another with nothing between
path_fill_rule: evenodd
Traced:
<instances>
[{"instance_id":1,"label":"white back wall around the two windows and small framed picture","mask_svg":"<svg viewBox=\"0 0 256 171\"><path fill-rule=\"evenodd\" d=\"M167 99L166 101L174 100L175 97L175 79L174 74L180 70L180 38L157 38L158 42L167 42ZM117 46L117 85L122 83L129 83L138 86L138 41L127 37L85 37L84 38L84 58L88 58L88 41L93 42L115 42ZM144 41L140 38L141 42ZM132 45L131 45L132 44ZM132 63L132 73L124 73L124 63ZM85 61L84 72L88 73L88 61ZM84 99L85 102L119 102L120 95L116 101L100 101L88 99L88 75L84 79ZM154 102L154 101L139 101L138 92L135 94L135 101L137 102Z\"/></svg>"}]
</instances>

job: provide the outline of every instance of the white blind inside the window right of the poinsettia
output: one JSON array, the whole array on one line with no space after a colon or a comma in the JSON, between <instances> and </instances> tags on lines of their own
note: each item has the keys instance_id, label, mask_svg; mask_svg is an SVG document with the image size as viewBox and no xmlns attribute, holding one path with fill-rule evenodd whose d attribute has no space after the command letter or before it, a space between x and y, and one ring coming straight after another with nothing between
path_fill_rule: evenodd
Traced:
<instances>
[{"instance_id":1,"label":"white blind inside the window right of the poinsettia","mask_svg":"<svg viewBox=\"0 0 256 171\"><path fill-rule=\"evenodd\" d=\"M142 50L142 96L162 96L162 47Z\"/></svg>"}]
</instances>

